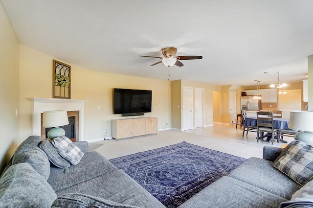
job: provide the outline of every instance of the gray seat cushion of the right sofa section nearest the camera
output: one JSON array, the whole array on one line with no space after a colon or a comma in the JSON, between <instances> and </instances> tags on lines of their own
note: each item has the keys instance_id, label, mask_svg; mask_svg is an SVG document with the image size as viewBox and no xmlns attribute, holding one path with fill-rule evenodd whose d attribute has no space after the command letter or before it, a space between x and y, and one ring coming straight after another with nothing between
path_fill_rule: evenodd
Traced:
<instances>
[{"instance_id":1,"label":"gray seat cushion of the right sofa section nearest the camera","mask_svg":"<svg viewBox=\"0 0 313 208\"><path fill-rule=\"evenodd\" d=\"M179 208L278 208L286 201L261 188L223 176Z\"/></svg>"}]
</instances>

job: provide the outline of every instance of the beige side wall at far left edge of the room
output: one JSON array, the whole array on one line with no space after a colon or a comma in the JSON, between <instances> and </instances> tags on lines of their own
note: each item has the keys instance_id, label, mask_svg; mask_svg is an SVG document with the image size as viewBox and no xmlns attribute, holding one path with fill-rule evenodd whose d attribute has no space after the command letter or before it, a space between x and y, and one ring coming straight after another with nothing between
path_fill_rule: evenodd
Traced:
<instances>
[{"instance_id":1,"label":"beige side wall at far left edge of the room","mask_svg":"<svg viewBox=\"0 0 313 208\"><path fill-rule=\"evenodd\" d=\"M19 142L19 42L0 3L0 173Z\"/></svg>"}]
</instances>

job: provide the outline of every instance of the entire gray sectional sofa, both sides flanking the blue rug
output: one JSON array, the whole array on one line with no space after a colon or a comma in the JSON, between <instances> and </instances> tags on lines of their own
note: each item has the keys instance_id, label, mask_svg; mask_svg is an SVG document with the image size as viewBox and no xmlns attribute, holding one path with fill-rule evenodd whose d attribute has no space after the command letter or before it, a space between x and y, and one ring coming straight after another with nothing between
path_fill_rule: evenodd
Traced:
<instances>
[{"instance_id":1,"label":"entire gray sectional sofa, both sides flanking the blue rug","mask_svg":"<svg viewBox=\"0 0 313 208\"><path fill-rule=\"evenodd\" d=\"M85 154L64 169L50 165L41 142L32 136L16 150L0 178L0 207L164 208L99 153L88 152L87 142L74 142ZM273 166L282 150L265 146L264 159L246 160L179 208L289 208L292 200L313 207L313 183L302 187Z\"/></svg>"}]
</instances>

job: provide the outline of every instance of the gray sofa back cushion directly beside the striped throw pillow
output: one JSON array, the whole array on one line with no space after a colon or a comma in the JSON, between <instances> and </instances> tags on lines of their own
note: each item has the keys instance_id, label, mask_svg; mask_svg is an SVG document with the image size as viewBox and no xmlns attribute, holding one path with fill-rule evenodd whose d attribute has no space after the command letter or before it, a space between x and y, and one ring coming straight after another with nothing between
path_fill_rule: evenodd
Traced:
<instances>
[{"instance_id":1,"label":"gray sofa back cushion directly beside the striped throw pillow","mask_svg":"<svg viewBox=\"0 0 313 208\"><path fill-rule=\"evenodd\" d=\"M42 139L39 136L30 136L24 140L16 149L12 164L28 162L47 180L50 174L50 162L45 152L39 148L40 142Z\"/></svg>"}]
</instances>

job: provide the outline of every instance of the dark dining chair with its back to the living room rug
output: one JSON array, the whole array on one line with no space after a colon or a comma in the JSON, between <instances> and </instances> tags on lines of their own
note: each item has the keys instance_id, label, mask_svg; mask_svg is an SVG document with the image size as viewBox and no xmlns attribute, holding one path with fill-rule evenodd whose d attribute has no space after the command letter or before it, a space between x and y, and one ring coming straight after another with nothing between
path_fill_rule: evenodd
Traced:
<instances>
[{"instance_id":1,"label":"dark dining chair with its back to the living room rug","mask_svg":"<svg viewBox=\"0 0 313 208\"><path fill-rule=\"evenodd\" d=\"M270 140L272 141L272 144L275 137L277 139L277 142L279 142L278 129L274 128L273 112L256 112L256 119L257 141L263 138L263 135L266 132L268 134L271 134Z\"/></svg>"}]
</instances>

